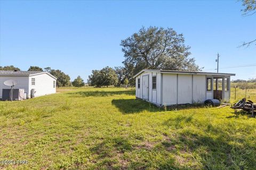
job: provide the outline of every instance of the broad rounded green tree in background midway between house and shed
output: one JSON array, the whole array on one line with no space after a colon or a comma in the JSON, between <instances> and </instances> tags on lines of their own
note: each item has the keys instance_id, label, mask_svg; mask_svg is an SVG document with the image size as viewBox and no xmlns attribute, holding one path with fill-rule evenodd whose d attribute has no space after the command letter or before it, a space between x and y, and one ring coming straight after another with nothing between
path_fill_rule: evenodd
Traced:
<instances>
[{"instance_id":1,"label":"broad rounded green tree in background midway between house and shed","mask_svg":"<svg viewBox=\"0 0 256 170\"><path fill-rule=\"evenodd\" d=\"M111 67L104 67L102 70L93 70L89 76L88 82L90 86L110 86L118 83L118 77Z\"/></svg>"}]
</instances>

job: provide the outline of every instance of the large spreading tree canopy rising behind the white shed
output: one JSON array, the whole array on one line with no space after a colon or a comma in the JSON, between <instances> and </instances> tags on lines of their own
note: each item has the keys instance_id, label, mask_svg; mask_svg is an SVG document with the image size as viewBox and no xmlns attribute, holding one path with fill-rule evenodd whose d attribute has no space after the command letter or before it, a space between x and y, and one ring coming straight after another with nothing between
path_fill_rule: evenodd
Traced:
<instances>
[{"instance_id":1,"label":"large spreading tree canopy rising behind the white shed","mask_svg":"<svg viewBox=\"0 0 256 170\"><path fill-rule=\"evenodd\" d=\"M124 65L132 74L142 69L198 71L194 58L189 58L189 46L172 28L142 27L139 32L121 41Z\"/></svg>"}]
</instances>

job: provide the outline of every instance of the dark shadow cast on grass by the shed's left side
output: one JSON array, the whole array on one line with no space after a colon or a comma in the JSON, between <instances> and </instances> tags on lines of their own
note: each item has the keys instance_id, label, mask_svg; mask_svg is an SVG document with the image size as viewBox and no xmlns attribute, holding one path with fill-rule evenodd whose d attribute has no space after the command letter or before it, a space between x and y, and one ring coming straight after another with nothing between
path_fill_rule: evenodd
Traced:
<instances>
[{"instance_id":1,"label":"dark shadow cast on grass by the shed's left side","mask_svg":"<svg viewBox=\"0 0 256 170\"><path fill-rule=\"evenodd\" d=\"M163 108L159 108L147 101L139 99L113 99L111 102L123 114L133 114L142 111L148 112L162 112Z\"/></svg>"}]
</instances>

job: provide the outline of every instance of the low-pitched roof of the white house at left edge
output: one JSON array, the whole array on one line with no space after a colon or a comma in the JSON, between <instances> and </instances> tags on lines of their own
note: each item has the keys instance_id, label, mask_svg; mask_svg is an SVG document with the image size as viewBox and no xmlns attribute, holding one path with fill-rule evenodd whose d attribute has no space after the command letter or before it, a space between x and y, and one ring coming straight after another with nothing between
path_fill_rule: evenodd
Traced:
<instances>
[{"instance_id":1,"label":"low-pitched roof of the white house at left edge","mask_svg":"<svg viewBox=\"0 0 256 170\"><path fill-rule=\"evenodd\" d=\"M43 72L43 71L5 71L5 70L0 70L0 75L5 75L5 76L30 76L30 75L37 75L37 74L48 74L50 75L53 79L55 78L52 74L48 72Z\"/></svg>"}]
</instances>

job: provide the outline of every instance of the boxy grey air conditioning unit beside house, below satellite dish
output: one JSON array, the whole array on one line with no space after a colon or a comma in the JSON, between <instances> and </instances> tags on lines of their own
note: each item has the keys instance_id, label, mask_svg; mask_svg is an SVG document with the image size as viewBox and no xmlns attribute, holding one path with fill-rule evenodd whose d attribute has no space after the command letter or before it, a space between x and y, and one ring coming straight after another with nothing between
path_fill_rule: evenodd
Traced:
<instances>
[{"instance_id":1,"label":"boxy grey air conditioning unit beside house, below satellite dish","mask_svg":"<svg viewBox=\"0 0 256 170\"><path fill-rule=\"evenodd\" d=\"M11 90L12 100L25 100L27 98L24 95L24 89L3 89L2 100L11 100Z\"/></svg>"}]
</instances>

